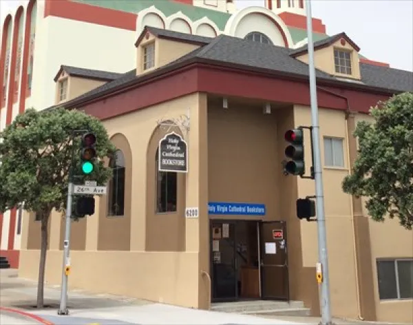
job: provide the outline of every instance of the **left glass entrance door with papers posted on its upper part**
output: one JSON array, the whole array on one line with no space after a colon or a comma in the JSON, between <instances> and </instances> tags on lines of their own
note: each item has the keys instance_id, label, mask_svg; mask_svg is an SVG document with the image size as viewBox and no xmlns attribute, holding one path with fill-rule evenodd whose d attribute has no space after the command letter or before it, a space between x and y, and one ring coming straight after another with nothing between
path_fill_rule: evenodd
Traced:
<instances>
[{"instance_id":1,"label":"left glass entrance door with papers posted on its upper part","mask_svg":"<svg viewBox=\"0 0 413 325\"><path fill-rule=\"evenodd\" d=\"M235 222L211 222L212 301L236 300Z\"/></svg>"}]
</instances>

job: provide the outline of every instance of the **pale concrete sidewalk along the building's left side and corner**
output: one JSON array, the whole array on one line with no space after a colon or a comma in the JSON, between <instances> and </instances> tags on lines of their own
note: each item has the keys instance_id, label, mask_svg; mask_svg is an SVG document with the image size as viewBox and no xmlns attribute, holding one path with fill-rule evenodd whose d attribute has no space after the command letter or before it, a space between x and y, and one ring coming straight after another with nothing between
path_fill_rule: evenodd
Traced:
<instances>
[{"instance_id":1,"label":"pale concrete sidewalk along the building's left side and corner","mask_svg":"<svg viewBox=\"0 0 413 325\"><path fill-rule=\"evenodd\" d=\"M15 308L43 319L37 324L56 325L120 325L120 324L299 324L279 319L266 319L253 315L238 315L155 304L130 297L70 291L70 315L57 315L59 286L45 285L45 305L50 308L37 310L36 282L17 277L16 270L0 271L0 304ZM10 313L6 314L10 316ZM5 323L3 323L5 324ZM10 323L13 324L13 323ZM14 323L19 324L19 323ZM30 323L29 323L30 324ZM36 323L34 323L36 324ZM302 324L302 323L301 323Z\"/></svg>"}]
</instances>

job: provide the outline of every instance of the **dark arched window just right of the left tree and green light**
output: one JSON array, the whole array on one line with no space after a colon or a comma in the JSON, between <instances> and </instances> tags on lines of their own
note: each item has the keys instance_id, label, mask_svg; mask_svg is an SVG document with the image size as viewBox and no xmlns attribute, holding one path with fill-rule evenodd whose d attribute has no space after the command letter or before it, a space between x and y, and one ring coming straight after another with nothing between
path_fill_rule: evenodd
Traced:
<instances>
[{"instance_id":1,"label":"dark arched window just right of the left tree and green light","mask_svg":"<svg viewBox=\"0 0 413 325\"><path fill-rule=\"evenodd\" d=\"M116 150L109 161L113 176L109 180L109 216L123 216L125 214L125 156L121 150Z\"/></svg>"}]
</instances>

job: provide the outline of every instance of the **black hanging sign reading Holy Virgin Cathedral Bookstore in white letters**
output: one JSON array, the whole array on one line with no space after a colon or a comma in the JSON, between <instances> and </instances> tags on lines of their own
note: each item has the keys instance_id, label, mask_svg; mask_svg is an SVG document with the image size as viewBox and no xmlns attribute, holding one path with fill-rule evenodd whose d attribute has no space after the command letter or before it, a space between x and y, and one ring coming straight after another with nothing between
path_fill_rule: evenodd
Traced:
<instances>
[{"instance_id":1,"label":"black hanging sign reading Holy Virgin Cathedral Bookstore in white letters","mask_svg":"<svg viewBox=\"0 0 413 325\"><path fill-rule=\"evenodd\" d=\"M188 147L179 134L171 132L159 141L158 170L178 173L188 171Z\"/></svg>"}]
</instances>

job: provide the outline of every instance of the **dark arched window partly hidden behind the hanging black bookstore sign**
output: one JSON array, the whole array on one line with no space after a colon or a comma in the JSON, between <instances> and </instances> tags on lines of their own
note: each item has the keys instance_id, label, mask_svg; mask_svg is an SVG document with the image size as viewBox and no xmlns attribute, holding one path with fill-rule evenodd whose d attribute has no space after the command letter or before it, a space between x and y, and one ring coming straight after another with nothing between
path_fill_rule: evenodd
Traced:
<instances>
[{"instance_id":1,"label":"dark arched window partly hidden behind the hanging black bookstore sign","mask_svg":"<svg viewBox=\"0 0 413 325\"><path fill-rule=\"evenodd\" d=\"M156 151L156 212L176 212L177 173L158 171L158 151Z\"/></svg>"}]
</instances>

